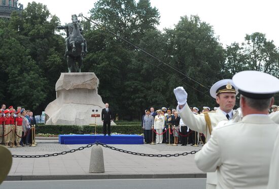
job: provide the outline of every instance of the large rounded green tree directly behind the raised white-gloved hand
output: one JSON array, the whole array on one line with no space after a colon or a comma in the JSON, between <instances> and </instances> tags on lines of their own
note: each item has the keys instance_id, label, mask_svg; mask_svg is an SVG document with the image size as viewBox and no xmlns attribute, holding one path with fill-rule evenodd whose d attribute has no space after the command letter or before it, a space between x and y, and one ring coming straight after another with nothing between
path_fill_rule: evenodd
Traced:
<instances>
[{"instance_id":1,"label":"large rounded green tree directly behind the raised white-gloved hand","mask_svg":"<svg viewBox=\"0 0 279 189\"><path fill-rule=\"evenodd\" d=\"M173 32L173 58L170 64L187 77L184 77L183 83L173 79L176 83L172 84L172 89L183 85L188 92L190 105L213 106L209 89L214 82L222 79L221 66L225 54L212 26L198 16L184 16ZM171 97L175 101L173 94Z\"/></svg>"}]
</instances>

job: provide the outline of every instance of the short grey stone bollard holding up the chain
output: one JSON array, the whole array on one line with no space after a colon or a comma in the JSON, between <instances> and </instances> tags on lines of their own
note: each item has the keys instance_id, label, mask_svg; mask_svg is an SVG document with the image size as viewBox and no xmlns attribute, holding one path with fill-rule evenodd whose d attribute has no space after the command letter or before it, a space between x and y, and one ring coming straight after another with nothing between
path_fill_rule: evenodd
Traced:
<instances>
[{"instance_id":1,"label":"short grey stone bollard holding up the chain","mask_svg":"<svg viewBox=\"0 0 279 189\"><path fill-rule=\"evenodd\" d=\"M100 146L94 146L91 149L89 173L103 173L103 153Z\"/></svg>"}]
</instances>

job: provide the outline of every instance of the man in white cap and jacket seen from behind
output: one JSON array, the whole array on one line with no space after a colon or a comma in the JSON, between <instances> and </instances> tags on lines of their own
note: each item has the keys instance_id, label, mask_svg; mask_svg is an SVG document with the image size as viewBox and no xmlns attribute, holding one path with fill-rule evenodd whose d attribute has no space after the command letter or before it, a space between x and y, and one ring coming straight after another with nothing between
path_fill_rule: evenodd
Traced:
<instances>
[{"instance_id":1,"label":"man in white cap and jacket seen from behind","mask_svg":"<svg viewBox=\"0 0 279 189\"><path fill-rule=\"evenodd\" d=\"M195 162L202 171L217 170L217 188L266 188L274 131L279 127L268 111L274 93L279 92L279 79L263 72L243 71L232 80L240 93L243 118L215 128L211 139L196 153Z\"/></svg>"}]
</instances>

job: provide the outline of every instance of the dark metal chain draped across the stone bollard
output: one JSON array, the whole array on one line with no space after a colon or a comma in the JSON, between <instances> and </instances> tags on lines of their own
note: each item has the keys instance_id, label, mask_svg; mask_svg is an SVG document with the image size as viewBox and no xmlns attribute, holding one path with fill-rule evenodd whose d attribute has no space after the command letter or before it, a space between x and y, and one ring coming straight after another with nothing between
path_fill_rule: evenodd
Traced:
<instances>
[{"instance_id":1,"label":"dark metal chain draped across the stone bollard","mask_svg":"<svg viewBox=\"0 0 279 189\"><path fill-rule=\"evenodd\" d=\"M119 148L116 148L116 147L113 147L113 146L109 146L107 144L103 144L103 143L100 143L100 142L95 142L95 143L88 144L86 146L79 147L77 149L72 149L72 150L69 150L69 151L62 151L60 153L52 153L52 154L44 154L44 155L12 155L12 156L13 157L21 157L21 158L51 157L51 156L57 156L57 155L64 155L64 154L67 154L67 153L74 153L76 151L83 150L85 148L90 148L94 144L101 145L105 148L110 148L112 150L119 151L119 152L122 152L122 153L128 153L128 154L140 155L140 156L148 156L148 157L178 157L178 156L181 156L181 155L195 154L200 150L199 149L197 151L193 150L193 151L190 151L190 152L175 153L175 154L148 154L148 153L139 153L139 152L123 150L123 149L119 149Z\"/></svg>"}]
</instances>

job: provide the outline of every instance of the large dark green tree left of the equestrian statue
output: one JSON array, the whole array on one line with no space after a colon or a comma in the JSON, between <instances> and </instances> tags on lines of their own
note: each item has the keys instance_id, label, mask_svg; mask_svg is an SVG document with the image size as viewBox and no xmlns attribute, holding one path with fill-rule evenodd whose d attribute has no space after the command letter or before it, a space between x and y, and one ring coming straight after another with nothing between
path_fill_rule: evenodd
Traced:
<instances>
[{"instance_id":1,"label":"large dark green tree left of the equestrian statue","mask_svg":"<svg viewBox=\"0 0 279 189\"><path fill-rule=\"evenodd\" d=\"M59 19L47 7L29 3L21 16L14 12L0 30L0 61L3 64L3 101L42 111L55 99L57 73L66 70L62 65L64 40L55 34Z\"/></svg>"}]
</instances>

